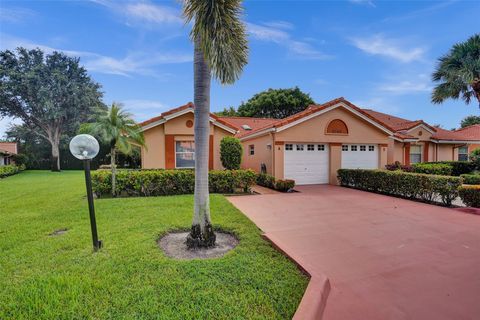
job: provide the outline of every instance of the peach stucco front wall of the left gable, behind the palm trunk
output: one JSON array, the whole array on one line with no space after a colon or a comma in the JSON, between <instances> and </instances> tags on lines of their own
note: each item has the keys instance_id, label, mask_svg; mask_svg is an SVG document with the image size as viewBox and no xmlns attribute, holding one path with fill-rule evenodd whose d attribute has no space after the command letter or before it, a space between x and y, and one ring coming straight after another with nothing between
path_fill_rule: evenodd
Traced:
<instances>
[{"instance_id":1,"label":"peach stucco front wall of the left gable, behind the palm trunk","mask_svg":"<svg viewBox=\"0 0 480 320\"><path fill-rule=\"evenodd\" d=\"M193 126L188 127L187 121L193 121L193 113L187 113L143 132L146 148L142 148L142 168L165 168L165 135L174 135L174 140L194 140ZM213 135L213 168L223 169L220 161L220 141L232 134L213 124L210 125Z\"/></svg>"}]
</instances>

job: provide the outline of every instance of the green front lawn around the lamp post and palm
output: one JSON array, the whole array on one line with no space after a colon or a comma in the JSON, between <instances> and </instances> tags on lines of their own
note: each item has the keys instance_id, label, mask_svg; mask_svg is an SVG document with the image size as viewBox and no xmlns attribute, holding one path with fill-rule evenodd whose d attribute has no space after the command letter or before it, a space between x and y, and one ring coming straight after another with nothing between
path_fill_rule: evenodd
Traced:
<instances>
[{"instance_id":1,"label":"green front lawn around the lamp post and palm","mask_svg":"<svg viewBox=\"0 0 480 320\"><path fill-rule=\"evenodd\" d=\"M213 223L237 248L191 261L159 250L159 235L189 227L192 208L191 195L96 200L104 248L93 253L82 172L2 179L0 319L291 318L307 278L223 196L211 196Z\"/></svg>"}]
</instances>

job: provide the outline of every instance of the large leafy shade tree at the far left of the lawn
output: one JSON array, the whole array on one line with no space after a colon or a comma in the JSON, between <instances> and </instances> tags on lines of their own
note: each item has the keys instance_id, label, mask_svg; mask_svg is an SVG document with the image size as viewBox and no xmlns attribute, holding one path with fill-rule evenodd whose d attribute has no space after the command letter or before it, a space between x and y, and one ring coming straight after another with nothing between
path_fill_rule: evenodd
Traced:
<instances>
[{"instance_id":1,"label":"large leafy shade tree at the far left of the lawn","mask_svg":"<svg viewBox=\"0 0 480 320\"><path fill-rule=\"evenodd\" d=\"M60 139L66 130L102 107L100 85L60 52L18 48L0 52L0 117L22 120L51 146L51 168L60 170Z\"/></svg>"}]
</instances>

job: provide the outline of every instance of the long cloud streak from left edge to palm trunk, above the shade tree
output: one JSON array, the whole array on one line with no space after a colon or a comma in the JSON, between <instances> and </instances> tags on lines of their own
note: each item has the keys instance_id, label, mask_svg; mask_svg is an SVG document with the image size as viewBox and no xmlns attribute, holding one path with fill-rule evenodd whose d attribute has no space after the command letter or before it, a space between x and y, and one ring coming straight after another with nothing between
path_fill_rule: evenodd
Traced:
<instances>
[{"instance_id":1,"label":"long cloud streak from left edge to palm trunk, above the shade tree","mask_svg":"<svg viewBox=\"0 0 480 320\"><path fill-rule=\"evenodd\" d=\"M0 34L2 39L0 48L15 49L17 47L25 47L27 49L40 48L47 53L53 51L63 52L66 55L80 57L81 63L91 72L114 74L121 76L130 76L132 74L148 75L148 76L165 76L155 72L154 67L161 64L184 63L192 61L191 54L184 53L167 53L167 52L133 52L128 53L123 58L115 58L101 55L89 51L75 51L52 48L50 46L34 43L26 39L11 37Z\"/></svg>"}]
</instances>

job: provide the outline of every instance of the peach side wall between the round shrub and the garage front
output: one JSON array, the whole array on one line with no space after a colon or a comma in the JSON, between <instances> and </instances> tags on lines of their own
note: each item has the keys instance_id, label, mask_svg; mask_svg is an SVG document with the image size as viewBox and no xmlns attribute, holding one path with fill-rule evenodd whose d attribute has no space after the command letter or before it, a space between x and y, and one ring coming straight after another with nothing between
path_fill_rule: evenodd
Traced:
<instances>
[{"instance_id":1,"label":"peach side wall between the round shrub and the garage front","mask_svg":"<svg viewBox=\"0 0 480 320\"><path fill-rule=\"evenodd\" d=\"M242 168L244 169L253 169L256 172L260 172L260 166L262 163L265 163L267 166L267 173L273 173L272 167L272 148L273 140L270 135L265 135L258 137L256 139L251 139L242 143L243 145L243 161ZM250 155L249 146L254 145L255 154ZM269 148L268 145L271 147Z\"/></svg>"}]
</instances>

